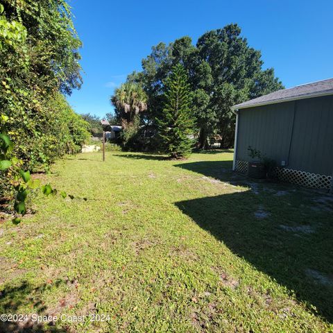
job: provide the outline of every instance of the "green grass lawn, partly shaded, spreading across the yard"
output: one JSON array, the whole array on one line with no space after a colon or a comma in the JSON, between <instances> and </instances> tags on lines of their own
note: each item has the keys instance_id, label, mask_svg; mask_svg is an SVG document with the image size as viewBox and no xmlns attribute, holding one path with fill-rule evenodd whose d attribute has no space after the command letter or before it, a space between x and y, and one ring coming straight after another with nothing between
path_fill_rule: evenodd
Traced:
<instances>
[{"instance_id":1,"label":"green grass lawn, partly shaded, spreading across the yard","mask_svg":"<svg viewBox=\"0 0 333 333\"><path fill-rule=\"evenodd\" d=\"M0 225L0 312L67 316L24 332L333 332L332 197L231 166L230 151L57 162L44 181L88 200L38 196Z\"/></svg>"}]
</instances>

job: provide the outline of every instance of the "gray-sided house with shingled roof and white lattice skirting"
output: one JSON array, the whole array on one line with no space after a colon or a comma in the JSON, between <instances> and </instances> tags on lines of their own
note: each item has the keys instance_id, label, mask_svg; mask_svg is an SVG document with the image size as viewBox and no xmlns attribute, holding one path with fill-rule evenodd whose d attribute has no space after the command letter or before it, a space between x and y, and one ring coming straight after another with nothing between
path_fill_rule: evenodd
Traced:
<instances>
[{"instance_id":1,"label":"gray-sided house with shingled roof and white lattice skirting","mask_svg":"<svg viewBox=\"0 0 333 333\"><path fill-rule=\"evenodd\" d=\"M272 92L232 107L234 171L246 173L251 146L278 165L278 178L333 191L333 78Z\"/></svg>"}]
</instances>

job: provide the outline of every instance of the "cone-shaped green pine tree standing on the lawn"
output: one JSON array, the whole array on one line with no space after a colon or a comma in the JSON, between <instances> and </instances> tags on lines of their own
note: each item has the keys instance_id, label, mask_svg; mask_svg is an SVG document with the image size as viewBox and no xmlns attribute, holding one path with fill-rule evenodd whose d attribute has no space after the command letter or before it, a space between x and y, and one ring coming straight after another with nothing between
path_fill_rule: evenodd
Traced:
<instances>
[{"instance_id":1,"label":"cone-shaped green pine tree standing on the lawn","mask_svg":"<svg viewBox=\"0 0 333 333\"><path fill-rule=\"evenodd\" d=\"M164 93L162 119L157 119L160 137L171 158L187 157L191 153L194 118L191 116L191 92L182 65L172 67Z\"/></svg>"}]
</instances>

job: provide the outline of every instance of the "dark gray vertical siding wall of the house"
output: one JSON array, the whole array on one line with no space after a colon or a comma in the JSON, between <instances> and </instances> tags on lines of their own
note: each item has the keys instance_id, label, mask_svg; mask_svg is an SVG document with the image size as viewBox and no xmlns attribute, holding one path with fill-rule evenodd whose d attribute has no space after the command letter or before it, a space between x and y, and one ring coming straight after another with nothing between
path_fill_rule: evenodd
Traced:
<instances>
[{"instance_id":1,"label":"dark gray vertical siding wall of the house","mask_svg":"<svg viewBox=\"0 0 333 333\"><path fill-rule=\"evenodd\" d=\"M248 146L289 169L332 175L333 96L239 110L237 160Z\"/></svg>"}]
</instances>

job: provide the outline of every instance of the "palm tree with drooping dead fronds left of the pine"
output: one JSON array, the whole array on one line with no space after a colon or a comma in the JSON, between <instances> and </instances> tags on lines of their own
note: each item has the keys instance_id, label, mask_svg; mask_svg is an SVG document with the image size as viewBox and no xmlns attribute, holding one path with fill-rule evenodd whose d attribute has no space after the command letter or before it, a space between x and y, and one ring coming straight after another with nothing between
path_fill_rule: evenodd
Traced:
<instances>
[{"instance_id":1,"label":"palm tree with drooping dead fronds left of the pine","mask_svg":"<svg viewBox=\"0 0 333 333\"><path fill-rule=\"evenodd\" d=\"M147 95L137 83L123 83L115 89L111 103L121 119L121 126L126 130L132 126L139 112L147 110Z\"/></svg>"}]
</instances>

